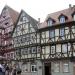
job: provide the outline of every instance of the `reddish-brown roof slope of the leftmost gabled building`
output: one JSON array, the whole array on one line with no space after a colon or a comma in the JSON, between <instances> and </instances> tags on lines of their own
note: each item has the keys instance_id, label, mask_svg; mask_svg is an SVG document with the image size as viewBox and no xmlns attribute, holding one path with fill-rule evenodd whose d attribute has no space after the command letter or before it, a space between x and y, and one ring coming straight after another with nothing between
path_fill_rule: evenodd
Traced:
<instances>
[{"instance_id":1,"label":"reddish-brown roof slope of the leftmost gabled building","mask_svg":"<svg viewBox=\"0 0 75 75\"><path fill-rule=\"evenodd\" d=\"M15 11L14 9L12 9L11 7L9 7L8 5L5 5L5 7L3 9L5 9L5 8L8 9L9 15L10 15L13 23L15 24L18 19L19 13L17 11Z\"/></svg>"}]
</instances>

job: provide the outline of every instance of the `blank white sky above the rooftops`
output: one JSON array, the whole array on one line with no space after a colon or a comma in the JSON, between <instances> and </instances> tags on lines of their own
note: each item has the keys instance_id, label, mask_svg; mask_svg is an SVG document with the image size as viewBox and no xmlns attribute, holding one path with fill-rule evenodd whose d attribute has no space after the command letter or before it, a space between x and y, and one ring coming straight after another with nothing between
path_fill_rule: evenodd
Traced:
<instances>
[{"instance_id":1,"label":"blank white sky above the rooftops","mask_svg":"<svg viewBox=\"0 0 75 75\"><path fill-rule=\"evenodd\" d=\"M75 5L75 0L0 0L0 12L5 5L20 12L23 9L30 16L43 22L48 14Z\"/></svg>"}]
</instances>

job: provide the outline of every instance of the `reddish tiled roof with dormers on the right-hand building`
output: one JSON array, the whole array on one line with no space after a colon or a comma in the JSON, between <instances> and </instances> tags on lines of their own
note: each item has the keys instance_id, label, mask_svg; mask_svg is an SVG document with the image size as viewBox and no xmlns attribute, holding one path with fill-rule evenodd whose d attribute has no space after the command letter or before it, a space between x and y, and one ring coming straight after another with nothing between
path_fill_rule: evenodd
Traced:
<instances>
[{"instance_id":1,"label":"reddish tiled roof with dormers on the right-hand building","mask_svg":"<svg viewBox=\"0 0 75 75\"><path fill-rule=\"evenodd\" d=\"M48 14L47 17L46 17L46 20L43 23L40 24L40 28L47 27L46 21L48 20L48 18L54 19L55 24L59 24L60 22L59 22L58 18L61 14L65 15L67 17L66 22L73 21L72 14L74 12L75 12L75 6L64 9L64 10L61 10L61 11L57 11L57 12L54 12L54 13L51 13L51 14Z\"/></svg>"}]
</instances>

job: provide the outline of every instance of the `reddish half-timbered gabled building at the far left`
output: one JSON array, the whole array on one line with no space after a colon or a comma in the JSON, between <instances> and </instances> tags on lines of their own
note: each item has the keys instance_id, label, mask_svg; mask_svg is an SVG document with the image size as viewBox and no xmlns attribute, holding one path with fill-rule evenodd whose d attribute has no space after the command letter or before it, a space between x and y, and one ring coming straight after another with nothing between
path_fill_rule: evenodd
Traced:
<instances>
[{"instance_id":1,"label":"reddish half-timbered gabled building at the far left","mask_svg":"<svg viewBox=\"0 0 75 75\"><path fill-rule=\"evenodd\" d=\"M19 13L9 6L5 6L0 15L0 27L3 27L1 32L1 47L0 55L4 56L6 60L14 59L14 49L12 47L12 31L17 21ZM6 62L6 61L5 61Z\"/></svg>"}]
</instances>

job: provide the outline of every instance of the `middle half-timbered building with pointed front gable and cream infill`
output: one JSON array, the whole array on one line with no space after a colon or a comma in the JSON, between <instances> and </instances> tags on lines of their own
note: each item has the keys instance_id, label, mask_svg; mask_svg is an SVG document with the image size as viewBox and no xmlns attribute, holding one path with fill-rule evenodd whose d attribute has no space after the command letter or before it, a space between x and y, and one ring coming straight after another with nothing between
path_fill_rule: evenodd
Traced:
<instances>
[{"instance_id":1,"label":"middle half-timbered building with pointed front gable and cream infill","mask_svg":"<svg viewBox=\"0 0 75 75\"><path fill-rule=\"evenodd\" d=\"M39 33L36 33L37 29L38 21L22 10L12 37L16 64L22 69L22 73L26 75L37 75L37 66L42 64L36 60L36 58L40 59L41 57L39 45L40 37ZM42 71L38 73L42 73Z\"/></svg>"}]
</instances>

